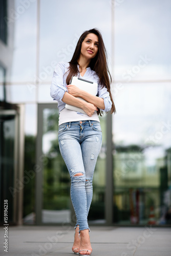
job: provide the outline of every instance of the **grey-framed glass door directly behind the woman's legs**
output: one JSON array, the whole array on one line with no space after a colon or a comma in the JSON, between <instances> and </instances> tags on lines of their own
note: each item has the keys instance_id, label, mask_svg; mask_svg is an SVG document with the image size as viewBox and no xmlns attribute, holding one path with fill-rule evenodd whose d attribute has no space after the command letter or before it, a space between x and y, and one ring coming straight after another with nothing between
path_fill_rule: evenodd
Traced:
<instances>
[{"instance_id":1,"label":"grey-framed glass door directly behind the woman's legs","mask_svg":"<svg viewBox=\"0 0 171 256\"><path fill-rule=\"evenodd\" d=\"M58 145L57 104L38 104L36 157L36 224L75 223L70 176ZM105 223L106 116L100 117L103 144L93 179L91 223Z\"/></svg>"}]
</instances>

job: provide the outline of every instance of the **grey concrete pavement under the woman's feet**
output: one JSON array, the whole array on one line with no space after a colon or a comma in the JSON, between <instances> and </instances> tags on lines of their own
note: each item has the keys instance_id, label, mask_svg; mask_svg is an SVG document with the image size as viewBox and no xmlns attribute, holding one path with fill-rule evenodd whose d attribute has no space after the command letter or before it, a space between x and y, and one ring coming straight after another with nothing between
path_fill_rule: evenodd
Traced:
<instances>
[{"instance_id":1,"label":"grey concrete pavement under the woman's feet","mask_svg":"<svg viewBox=\"0 0 171 256\"><path fill-rule=\"evenodd\" d=\"M90 229L92 256L171 256L170 227L90 226ZM8 252L4 251L4 234L1 227L2 256L74 255L71 250L74 227L70 225L9 226Z\"/></svg>"}]
</instances>

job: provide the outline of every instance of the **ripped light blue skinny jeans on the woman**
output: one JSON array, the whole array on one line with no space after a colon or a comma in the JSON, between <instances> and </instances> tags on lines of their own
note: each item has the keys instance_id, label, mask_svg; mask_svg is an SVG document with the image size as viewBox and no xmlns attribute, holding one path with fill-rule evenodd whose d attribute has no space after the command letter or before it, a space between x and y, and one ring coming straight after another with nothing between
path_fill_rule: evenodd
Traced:
<instances>
[{"instance_id":1,"label":"ripped light blue skinny jeans on the woman","mask_svg":"<svg viewBox=\"0 0 171 256\"><path fill-rule=\"evenodd\" d=\"M59 149L71 178L71 200L79 230L89 229L88 213L93 197L93 174L102 143L98 121L62 123ZM79 174L79 176L75 176ZM90 230L90 229L89 229Z\"/></svg>"}]
</instances>

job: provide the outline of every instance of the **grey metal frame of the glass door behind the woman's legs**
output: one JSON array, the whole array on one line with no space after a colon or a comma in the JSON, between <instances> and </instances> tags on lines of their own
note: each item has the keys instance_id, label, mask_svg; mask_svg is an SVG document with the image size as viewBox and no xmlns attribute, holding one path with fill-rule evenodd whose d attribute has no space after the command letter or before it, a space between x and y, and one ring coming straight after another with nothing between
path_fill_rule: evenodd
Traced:
<instances>
[{"instance_id":1,"label":"grey metal frame of the glass door behind the woman's legs","mask_svg":"<svg viewBox=\"0 0 171 256\"><path fill-rule=\"evenodd\" d=\"M57 103L38 103L37 104L37 138L36 138L36 181L35 181L35 225L58 225L57 223L42 222L42 175L43 175L43 160L42 160L42 136L43 136L43 110L56 109ZM113 224L113 155L112 155L112 115L107 114L106 118L106 189L105 189L105 224ZM73 209L71 208L71 211ZM73 214L73 212L72 212ZM99 224L98 224L99 225Z\"/></svg>"}]
</instances>

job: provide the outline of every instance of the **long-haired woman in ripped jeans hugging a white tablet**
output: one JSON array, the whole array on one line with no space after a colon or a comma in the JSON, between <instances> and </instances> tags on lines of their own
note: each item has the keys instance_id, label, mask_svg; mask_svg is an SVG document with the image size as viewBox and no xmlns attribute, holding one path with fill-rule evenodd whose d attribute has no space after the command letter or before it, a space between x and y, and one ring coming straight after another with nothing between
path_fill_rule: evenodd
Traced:
<instances>
[{"instance_id":1,"label":"long-haired woman in ripped jeans hugging a white tablet","mask_svg":"<svg viewBox=\"0 0 171 256\"><path fill-rule=\"evenodd\" d=\"M71 85L73 76L97 82L97 96ZM59 62L52 78L51 97L58 101L59 108L59 148L70 173L71 200L77 218L72 250L80 255L92 253L88 212L93 196L93 174L102 141L98 114L100 110L111 110L111 114L116 112L110 82L106 51L97 29L85 31L80 36L71 61ZM86 114L66 109L66 103L81 108Z\"/></svg>"}]
</instances>

